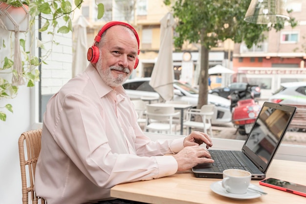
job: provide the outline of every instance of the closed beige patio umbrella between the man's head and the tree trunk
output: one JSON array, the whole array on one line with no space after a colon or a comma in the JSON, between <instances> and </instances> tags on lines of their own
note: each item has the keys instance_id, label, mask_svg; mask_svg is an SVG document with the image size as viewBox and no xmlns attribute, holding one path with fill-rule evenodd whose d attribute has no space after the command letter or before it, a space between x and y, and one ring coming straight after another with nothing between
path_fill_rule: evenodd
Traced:
<instances>
[{"instance_id":1,"label":"closed beige patio umbrella between the man's head and the tree trunk","mask_svg":"<svg viewBox=\"0 0 306 204\"><path fill-rule=\"evenodd\" d=\"M165 101L170 101L174 96L174 70L172 60L174 24L175 20L171 13L168 13L160 20L160 46L150 81L150 85Z\"/></svg>"}]
</instances>

